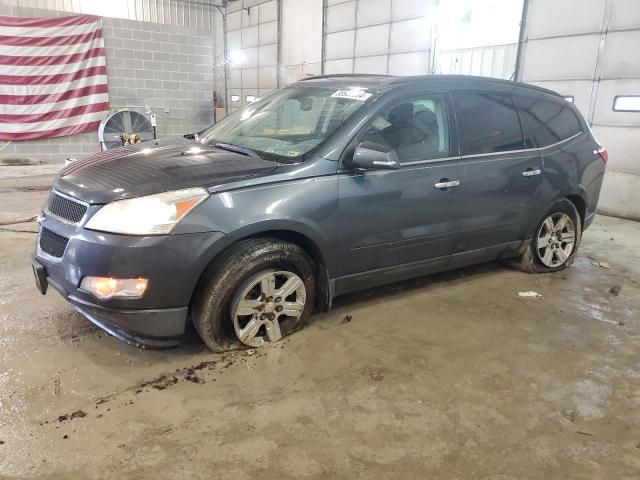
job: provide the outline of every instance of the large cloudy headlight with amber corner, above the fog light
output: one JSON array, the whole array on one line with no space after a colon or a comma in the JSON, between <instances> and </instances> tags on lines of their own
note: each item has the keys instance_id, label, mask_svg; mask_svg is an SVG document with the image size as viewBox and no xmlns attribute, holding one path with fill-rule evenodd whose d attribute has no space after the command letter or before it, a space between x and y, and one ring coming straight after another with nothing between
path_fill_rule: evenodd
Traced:
<instances>
[{"instance_id":1,"label":"large cloudy headlight with amber corner, above the fog light","mask_svg":"<svg viewBox=\"0 0 640 480\"><path fill-rule=\"evenodd\" d=\"M187 188L146 197L116 200L102 207L85 228L128 235L169 233L209 193L204 188Z\"/></svg>"}]
</instances>

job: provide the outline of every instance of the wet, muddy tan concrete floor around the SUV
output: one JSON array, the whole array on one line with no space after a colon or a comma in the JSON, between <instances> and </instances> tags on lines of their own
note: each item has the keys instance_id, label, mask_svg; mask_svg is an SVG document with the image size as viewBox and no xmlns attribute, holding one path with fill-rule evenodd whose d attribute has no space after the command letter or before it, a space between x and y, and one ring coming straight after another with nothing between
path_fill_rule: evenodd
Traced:
<instances>
[{"instance_id":1,"label":"wet, muddy tan concrete floor around the SUV","mask_svg":"<svg viewBox=\"0 0 640 480\"><path fill-rule=\"evenodd\" d=\"M37 212L51 179L0 179L0 218ZM2 478L640 474L639 223L597 217L562 273L491 264L350 295L227 355L193 332L169 351L109 337L36 291L35 237L6 231L35 223L0 228Z\"/></svg>"}]
</instances>

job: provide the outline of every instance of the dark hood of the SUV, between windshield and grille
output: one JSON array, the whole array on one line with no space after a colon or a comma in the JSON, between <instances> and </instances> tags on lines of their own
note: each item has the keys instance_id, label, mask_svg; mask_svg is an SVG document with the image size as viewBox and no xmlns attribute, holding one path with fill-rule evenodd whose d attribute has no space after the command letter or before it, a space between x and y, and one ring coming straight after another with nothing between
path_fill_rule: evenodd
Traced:
<instances>
[{"instance_id":1,"label":"dark hood of the SUV, between windshield and grille","mask_svg":"<svg viewBox=\"0 0 640 480\"><path fill-rule=\"evenodd\" d=\"M151 142L149 142L151 143ZM263 175L278 164L193 142L116 148L67 165L54 188L90 204L207 187Z\"/></svg>"}]
</instances>

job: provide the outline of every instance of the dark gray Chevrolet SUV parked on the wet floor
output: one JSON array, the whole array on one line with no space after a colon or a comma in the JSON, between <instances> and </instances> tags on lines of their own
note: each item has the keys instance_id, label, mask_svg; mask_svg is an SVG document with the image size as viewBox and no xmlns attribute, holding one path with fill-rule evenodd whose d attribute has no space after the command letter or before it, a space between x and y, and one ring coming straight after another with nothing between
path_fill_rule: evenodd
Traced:
<instances>
[{"instance_id":1,"label":"dark gray Chevrolet SUV parked on the wet floor","mask_svg":"<svg viewBox=\"0 0 640 480\"><path fill-rule=\"evenodd\" d=\"M203 131L65 167L33 269L138 346L190 318L276 342L336 295L496 259L572 261L607 152L563 97L467 76L312 77Z\"/></svg>"}]
</instances>

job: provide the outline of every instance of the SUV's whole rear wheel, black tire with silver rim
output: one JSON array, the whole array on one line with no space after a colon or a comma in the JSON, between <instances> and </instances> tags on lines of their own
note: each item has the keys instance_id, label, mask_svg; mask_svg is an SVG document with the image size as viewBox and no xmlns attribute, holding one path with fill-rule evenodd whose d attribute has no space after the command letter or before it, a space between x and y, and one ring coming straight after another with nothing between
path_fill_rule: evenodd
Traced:
<instances>
[{"instance_id":1,"label":"SUV's whole rear wheel, black tire with silver rim","mask_svg":"<svg viewBox=\"0 0 640 480\"><path fill-rule=\"evenodd\" d=\"M553 235L550 237L547 245L552 245L551 247L544 247L545 243L545 233L548 232L550 224L547 223L549 219L553 222L554 227L558 227L559 225L555 224L555 222L559 219L565 218L564 216L570 219L570 222L567 222L567 227L563 229L562 238ZM571 249L568 248L569 242L564 242L564 240L570 238L569 230L570 225L573 227L573 246ZM540 221L536 230L533 232L531 236L531 240L529 240L528 245L520 257L519 262L516 263L516 267L524 272L528 273L549 273L549 272L559 272L560 270L564 270L569 267L578 252L578 247L580 246L580 240L582 239L582 221L580 219L580 214L576 209L575 205L571 203L571 201L563 198L554 203L544 218ZM558 246L556 246L558 245ZM556 250L556 253L553 253L553 250ZM570 251L570 253L568 253ZM550 253L552 254L549 257ZM551 260L549 261L549 259Z\"/></svg>"}]
</instances>

